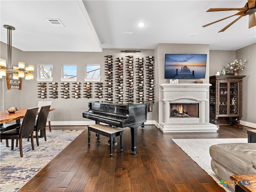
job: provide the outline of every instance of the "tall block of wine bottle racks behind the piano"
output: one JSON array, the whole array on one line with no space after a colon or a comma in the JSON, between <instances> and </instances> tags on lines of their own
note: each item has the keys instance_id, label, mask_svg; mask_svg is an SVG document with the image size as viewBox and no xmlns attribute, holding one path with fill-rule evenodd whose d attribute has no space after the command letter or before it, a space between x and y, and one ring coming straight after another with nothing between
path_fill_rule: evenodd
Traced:
<instances>
[{"instance_id":1,"label":"tall block of wine bottle racks behind the piano","mask_svg":"<svg viewBox=\"0 0 256 192\"><path fill-rule=\"evenodd\" d=\"M154 101L154 56L146 56L145 59L134 58L133 55L118 57L115 58L114 69L113 56L104 57L107 82L105 100L139 103Z\"/></svg>"}]
</instances>

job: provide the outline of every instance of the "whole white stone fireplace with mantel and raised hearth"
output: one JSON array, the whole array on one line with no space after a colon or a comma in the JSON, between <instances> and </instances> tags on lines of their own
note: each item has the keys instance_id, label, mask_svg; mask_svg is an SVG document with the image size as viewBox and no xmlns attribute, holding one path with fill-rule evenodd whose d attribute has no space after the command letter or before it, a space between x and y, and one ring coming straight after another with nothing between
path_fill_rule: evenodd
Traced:
<instances>
[{"instance_id":1,"label":"whole white stone fireplace with mantel and raised hearth","mask_svg":"<svg viewBox=\"0 0 256 192\"><path fill-rule=\"evenodd\" d=\"M160 130L162 132L216 132L217 126L208 122L210 85L161 84L164 122L160 122Z\"/></svg>"}]
</instances>

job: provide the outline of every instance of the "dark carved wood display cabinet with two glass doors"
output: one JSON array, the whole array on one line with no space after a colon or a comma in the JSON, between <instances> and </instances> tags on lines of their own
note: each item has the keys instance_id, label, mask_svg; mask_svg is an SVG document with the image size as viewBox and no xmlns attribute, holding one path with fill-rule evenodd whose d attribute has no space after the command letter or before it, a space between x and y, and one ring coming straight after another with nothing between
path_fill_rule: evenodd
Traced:
<instances>
[{"instance_id":1,"label":"dark carved wood display cabinet with two glass doors","mask_svg":"<svg viewBox=\"0 0 256 192\"><path fill-rule=\"evenodd\" d=\"M242 118L242 79L245 76L210 76L210 123L220 125L240 125Z\"/></svg>"}]
</instances>

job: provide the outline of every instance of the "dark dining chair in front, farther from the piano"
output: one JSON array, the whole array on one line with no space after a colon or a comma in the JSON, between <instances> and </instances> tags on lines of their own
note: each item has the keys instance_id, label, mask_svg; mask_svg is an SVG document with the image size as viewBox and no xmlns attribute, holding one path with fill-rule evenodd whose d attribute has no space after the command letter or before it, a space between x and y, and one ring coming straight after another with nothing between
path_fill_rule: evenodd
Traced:
<instances>
[{"instance_id":1,"label":"dark dining chair in front, farther from the piano","mask_svg":"<svg viewBox=\"0 0 256 192\"><path fill-rule=\"evenodd\" d=\"M19 140L20 157L23 157L22 138L27 138L28 136L30 136L32 150L34 150L33 134L34 134L34 126L35 126L37 112L38 112L38 107L28 109L23 118L20 128L12 129L12 130L0 133L1 139L12 140L11 150L14 149L14 139Z\"/></svg>"}]
</instances>

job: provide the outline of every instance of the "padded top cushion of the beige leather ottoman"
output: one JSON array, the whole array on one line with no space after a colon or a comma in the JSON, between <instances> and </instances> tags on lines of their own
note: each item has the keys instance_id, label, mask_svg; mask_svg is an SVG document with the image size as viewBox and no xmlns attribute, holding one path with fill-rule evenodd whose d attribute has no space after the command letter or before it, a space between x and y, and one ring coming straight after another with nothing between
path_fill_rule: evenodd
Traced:
<instances>
[{"instance_id":1,"label":"padded top cushion of the beige leather ottoman","mask_svg":"<svg viewBox=\"0 0 256 192\"><path fill-rule=\"evenodd\" d=\"M216 144L210 146L209 152L212 160L234 174L248 174L256 169L256 143Z\"/></svg>"}]
</instances>

